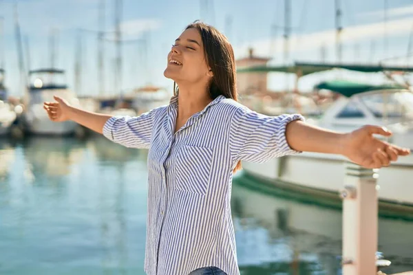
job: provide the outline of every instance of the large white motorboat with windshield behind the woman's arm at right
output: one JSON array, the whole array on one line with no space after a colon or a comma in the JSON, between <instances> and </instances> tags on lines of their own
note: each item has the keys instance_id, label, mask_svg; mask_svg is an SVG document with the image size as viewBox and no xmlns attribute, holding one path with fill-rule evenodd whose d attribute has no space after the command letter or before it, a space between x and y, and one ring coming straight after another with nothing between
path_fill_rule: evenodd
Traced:
<instances>
[{"instance_id":1,"label":"large white motorboat with windshield behind the woman's arm at right","mask_svg":"<svg viewBox=\"0 0 413 275\"><path fill-rule=\"evenodd\" d=\"M377 89L343 96L319 120L307 120L327 129L348 132L366 124L386 126L389 142L413 149L413 94L403 89ZM284 183L300 192L339 192L348 159L341 155L304 152L271 159L263 164L242 162L254 177ZM379 170L379 199L413 206L413 155L399 157ZM338 197L337 197L338 199Z\"/></svg>"}]
</instances>

